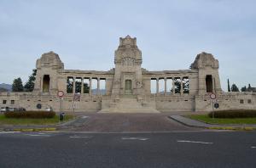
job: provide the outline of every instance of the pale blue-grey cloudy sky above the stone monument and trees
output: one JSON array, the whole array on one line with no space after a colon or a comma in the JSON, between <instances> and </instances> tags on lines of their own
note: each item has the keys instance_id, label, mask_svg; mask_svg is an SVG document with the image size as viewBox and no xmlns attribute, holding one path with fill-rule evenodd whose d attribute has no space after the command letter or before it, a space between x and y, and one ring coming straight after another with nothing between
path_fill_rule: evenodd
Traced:
<instances>
[{"instance_id":1,"label":"pale blue-grey cloudy sky above the stone monument and trees","mask_svg":"<svg viewBox=\"0 0 256 168\"><path fill-rule=\"evenodd\" d=\"M25 82L54 51L65 69L109 70L119 37L137 37L143 68L185 70L212 53L220 80L256 87L256 1L0 0L0 83Z\"/></svg>"}]
</instances>

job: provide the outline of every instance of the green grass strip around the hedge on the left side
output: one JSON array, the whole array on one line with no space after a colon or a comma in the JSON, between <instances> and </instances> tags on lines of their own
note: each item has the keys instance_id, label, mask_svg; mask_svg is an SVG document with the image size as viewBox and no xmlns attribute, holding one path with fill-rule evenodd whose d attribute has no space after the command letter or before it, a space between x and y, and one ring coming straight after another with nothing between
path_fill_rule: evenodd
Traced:
<instances>
[{"instance_id":1,"label":"green grass strip around the hedge on the left side","mask_svg":"<svg viewBox=\"0 0 256 168\"><path fill-rule=\"evenodd\" d=\"M71 120L72 115L65 115L64 121ZM59 116L55 115L52 119L15 119L6 118L4 115L0 115L0 125L51 125L59 122Z\"/></svg>"}]
</instances>

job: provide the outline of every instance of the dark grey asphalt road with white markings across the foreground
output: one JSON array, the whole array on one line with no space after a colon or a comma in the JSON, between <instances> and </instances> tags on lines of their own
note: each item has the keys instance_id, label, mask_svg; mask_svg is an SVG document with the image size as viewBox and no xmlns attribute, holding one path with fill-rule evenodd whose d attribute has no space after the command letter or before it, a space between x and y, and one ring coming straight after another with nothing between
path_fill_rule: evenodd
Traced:
<instances>
[{"instance_id":1,"label":"dark grey asphalt road with white markings across the foreground","mask_svg":"<svg viewBox=\"0 0 256 168\"><path fill-rule=\"evenodd\" d=\"M256 167L256 132L0 132L0 167Z\"/></svg>"}]
</instances>

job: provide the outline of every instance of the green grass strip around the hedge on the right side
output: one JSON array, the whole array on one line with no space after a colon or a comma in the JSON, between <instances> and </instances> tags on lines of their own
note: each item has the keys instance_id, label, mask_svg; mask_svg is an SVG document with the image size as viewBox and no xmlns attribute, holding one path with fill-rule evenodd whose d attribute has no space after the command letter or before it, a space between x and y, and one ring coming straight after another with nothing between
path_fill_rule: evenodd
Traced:
<instances>
[{"instance_id":1,"label":"green grass strip around the hedge on the right side","mask_svg":"<svg viewBox=\"0 0 256 168\"><path fill-rule=\"evenodd\" d=\"M208 115L185 115L193 120L200 120L209 124L256 124L256 117L254 118L235 118L235 119L212 119Z\"/></svg>"}]
</instances>

